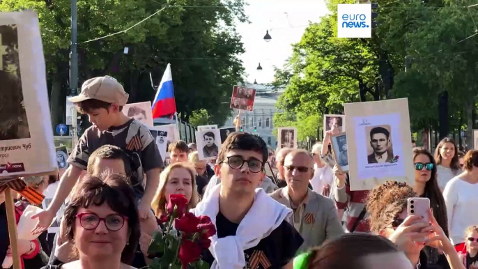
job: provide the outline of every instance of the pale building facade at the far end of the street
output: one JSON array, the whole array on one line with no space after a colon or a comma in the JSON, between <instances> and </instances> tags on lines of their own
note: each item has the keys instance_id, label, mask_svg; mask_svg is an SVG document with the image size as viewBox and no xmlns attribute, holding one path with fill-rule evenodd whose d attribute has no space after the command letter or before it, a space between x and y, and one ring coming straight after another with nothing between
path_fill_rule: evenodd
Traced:
<instances>
[{"instance_id":1,"label":"pale building facade at the far end of the street","mask_svg":"<svg viewBox=\"0 0 478 269\"><path fill-rule=\"evenodd\" d=\"M268 146L275 149L277 147L277 138L272 134L272 130L274 130L272 118L274 118L276 113L282 113L282 110L277 109L275 105L279 96L284 93L284 89L272 91L272 88L262 84L245 84L243 86L255 89L256 98L252 112L242 110L240 113L242 129L244 132L258 134ZM237 114L238 110L234 110L222 127L234 127L233 121Z\"/></svg>"}]
</instances>

